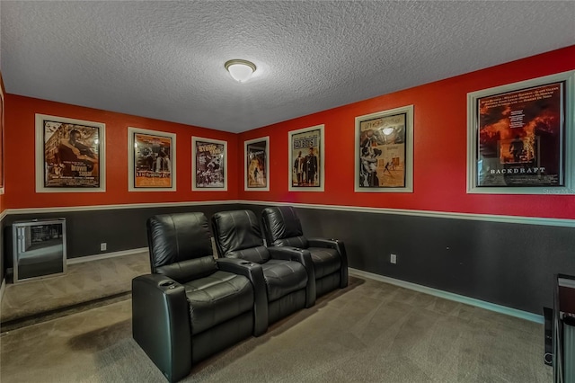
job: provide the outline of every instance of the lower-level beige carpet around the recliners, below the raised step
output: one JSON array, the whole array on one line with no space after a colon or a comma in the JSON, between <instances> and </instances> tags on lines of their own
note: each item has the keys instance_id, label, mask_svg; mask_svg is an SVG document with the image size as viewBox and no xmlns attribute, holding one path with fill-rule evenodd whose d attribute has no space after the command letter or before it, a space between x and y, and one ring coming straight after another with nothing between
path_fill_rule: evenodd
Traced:
<instances>
[{"instance_id":1,"label":"lower-level beige carpet around the recliners, below the raised step","mask_svg":"<svg viewBox=\"0 0 575 383\"><path fill-rule=\"evenodd\" d=\"M0 381L162 382L130 300L0 335ZM350 277L349 287L196 365L184 382L547 382L543 325Z\"/></svg>"}]
</instances>

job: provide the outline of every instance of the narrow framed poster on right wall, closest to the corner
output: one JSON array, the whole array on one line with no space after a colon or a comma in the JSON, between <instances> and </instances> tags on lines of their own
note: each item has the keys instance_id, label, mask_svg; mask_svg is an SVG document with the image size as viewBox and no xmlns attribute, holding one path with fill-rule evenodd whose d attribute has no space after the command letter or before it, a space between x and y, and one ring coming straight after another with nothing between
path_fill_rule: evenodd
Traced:
<instances>
[{"instance_id":1,"label":"narrow framed poster on right wall, closest to the corner","mask_svg":"<svg viewBox=\"0 0 575 383\"><path fill-rule=\"evenodd\" d=\"M244 191L270 191L270 137L243 142Z\"/></svg>"}]
</instances>

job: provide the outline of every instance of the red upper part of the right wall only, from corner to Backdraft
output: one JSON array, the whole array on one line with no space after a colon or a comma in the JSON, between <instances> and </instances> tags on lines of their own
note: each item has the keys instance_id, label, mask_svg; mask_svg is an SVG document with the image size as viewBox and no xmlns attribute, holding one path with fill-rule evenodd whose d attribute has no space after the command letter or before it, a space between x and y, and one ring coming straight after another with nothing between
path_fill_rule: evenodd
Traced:
<instances>
[{"instance_id":1,"label":"red upper part of the right wall only, from corner to Backdraft","mask_svg":"<svg viewBox=\"0 0 575 383\"><path fill-rule=\"evenodd\" d=\"M244 132L240 154L244 140L270 136L270 191L243 191L242 176L239 199L575 218L575 196L466 193L467 93L572 69L575 46ZM414 192L354 192L355 118L411 104ZM319 124L325 125L325 191L288 191L288 131Z\"/></svg>"}]
</instances>

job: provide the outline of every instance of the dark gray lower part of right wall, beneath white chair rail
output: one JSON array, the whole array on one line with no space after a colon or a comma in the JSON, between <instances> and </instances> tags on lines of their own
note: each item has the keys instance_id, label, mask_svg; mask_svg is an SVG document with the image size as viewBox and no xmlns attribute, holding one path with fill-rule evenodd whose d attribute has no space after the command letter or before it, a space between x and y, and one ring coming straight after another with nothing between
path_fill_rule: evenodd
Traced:
<instances>
[{"instance_id":1,"label":"dark gray lower part of right wall, beneath white chair rail","mask_svg":"<svg viewBox=\"0 0 575 383\"><path fill-rule=\"evenodd\" d=\"M573 227L328 209L297 213L306 236L345 242L349 267L538 315L553 307L553 274L575 274ZM390 254L397 255L396 264Z\"/></svg>"}]
</instances>

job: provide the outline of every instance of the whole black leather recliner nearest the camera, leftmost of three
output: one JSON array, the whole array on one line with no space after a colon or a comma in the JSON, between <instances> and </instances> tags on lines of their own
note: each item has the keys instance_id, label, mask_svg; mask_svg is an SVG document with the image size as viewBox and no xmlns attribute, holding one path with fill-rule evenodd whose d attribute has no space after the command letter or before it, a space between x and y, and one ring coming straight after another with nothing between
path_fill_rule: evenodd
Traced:
<instances>
[{"instance_id":1,"label":"whole black leather recliner nearest the camera, leftmost of three","mask_svg":"<svg viewBox=\"0 0 575 383\"><path fill-rule=\"evenodd\" d=\"M216 260L203 213L158 215L146 226L152 274L132 281L132 334L168 380L265 332L261 266Z\"/></svg>"}]
</instances>

